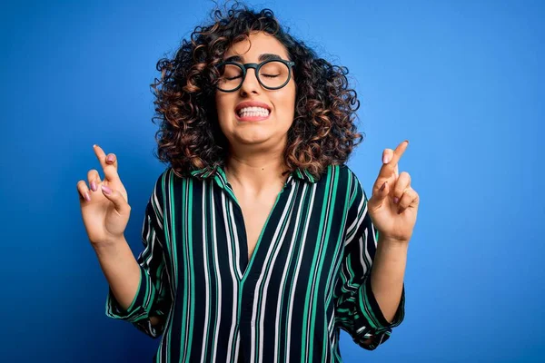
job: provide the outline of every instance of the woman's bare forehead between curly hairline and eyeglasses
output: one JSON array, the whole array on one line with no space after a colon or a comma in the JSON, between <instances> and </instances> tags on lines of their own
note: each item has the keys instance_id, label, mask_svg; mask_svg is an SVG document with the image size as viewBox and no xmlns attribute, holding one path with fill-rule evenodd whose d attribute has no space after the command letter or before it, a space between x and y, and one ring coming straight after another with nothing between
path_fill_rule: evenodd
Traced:
<instances>
[{"instance_id":1,"label":"woman's bare forehead between curly hairline and eyeglasses","mask_svg":"<svg viewBox=\"0 0 545 363\"><path fill-rule=\"evenodd\" d=\"M288 59L288 52L278 39L273 35L263 32L252 33L242 41L233 44L223 54L223 59L233 55L240 55L243 60L257 60L260 54L278 54L283 59Z\"/></svg>"}]
</instances>

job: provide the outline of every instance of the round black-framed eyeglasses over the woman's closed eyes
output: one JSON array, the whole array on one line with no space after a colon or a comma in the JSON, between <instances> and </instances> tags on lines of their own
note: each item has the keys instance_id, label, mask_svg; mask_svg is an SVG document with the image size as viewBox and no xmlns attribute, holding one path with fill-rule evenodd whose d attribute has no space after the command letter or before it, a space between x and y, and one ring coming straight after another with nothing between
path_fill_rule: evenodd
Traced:
<instances>
[{"instance_id":1,"label":"round black-framed eyeglasses over the woman's closed eyes","mask_svg":"<svg viewBox=\"0 0 545 363\"><path fill-rule=\"evenodd\" d=\"M257 81L268 90L278 90L290 82L292 67L295 62L273 59L260 64L223 62L216 65L220 78L217 89L223 92L234 92L241 88L246 79L247 70L253 68Z\"/></svg>"}]
</instances>

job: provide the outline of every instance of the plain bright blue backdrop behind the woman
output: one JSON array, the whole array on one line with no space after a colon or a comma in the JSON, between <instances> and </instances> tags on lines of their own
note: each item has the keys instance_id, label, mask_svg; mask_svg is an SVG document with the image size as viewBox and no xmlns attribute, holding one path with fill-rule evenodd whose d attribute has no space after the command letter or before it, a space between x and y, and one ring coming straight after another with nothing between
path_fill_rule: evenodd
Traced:
<instances>
[{"instance_id":1,"label":"plain bright blue backdrop behind the woman","mask_svg":"<svg viewBox=\"0 0 545 363\"><path fill-rule=\"evenodd\" d=\"M46 4L45 4L46 3ZM381 152L410 145L421 207L406 317L346 362L537 362L545 358L545 17L530 1L250 2L346 65L366 139L349 165L366 191ZM208 20L205 2L17 2L0 7L5 362L149 361L158 340L104 315L107 285L76 182L119 158L142 247L154 159L155 64ZM103 175L101 171L101 175ZM541 187L540 187L541 185Z\"/></svg>"}]
</instances>

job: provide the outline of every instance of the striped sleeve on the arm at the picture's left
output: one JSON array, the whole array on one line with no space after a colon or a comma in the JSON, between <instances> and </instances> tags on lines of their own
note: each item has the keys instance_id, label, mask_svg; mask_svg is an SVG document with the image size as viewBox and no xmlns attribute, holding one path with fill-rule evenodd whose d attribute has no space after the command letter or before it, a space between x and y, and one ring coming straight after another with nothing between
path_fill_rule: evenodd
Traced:
<instances>
[{"instance_id":1,"label":"striped sleeve on the arm at the picture's left","mask_svg":"<svg viewBox=\"0 0 545 363\"><path fill-rule=\"evenodd\" d=\"M152 338L158 338L164 329L164 318L171 309L172 293L168 270L163 258L163 174L157 179L154 191L147 203L142 227L144 249L137 262L140 266L140 283L133 302L124 310L108 290L106 316L123 319ZM161 323L152 326L150 317L163 317Z\"/></svg>"}]
</instances>

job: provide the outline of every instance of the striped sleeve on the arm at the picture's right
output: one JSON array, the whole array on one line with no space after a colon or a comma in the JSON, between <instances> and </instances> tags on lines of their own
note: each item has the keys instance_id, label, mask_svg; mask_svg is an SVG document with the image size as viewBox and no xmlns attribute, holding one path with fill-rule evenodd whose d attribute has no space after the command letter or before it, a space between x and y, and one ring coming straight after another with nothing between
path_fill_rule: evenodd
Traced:
<instances>
[{"instance_id":1,"label":"striped sleeve on the arm at the picture's right","mask_svg":"<svg viewBox=\"0 0 545 363\"><path fill-rule=\"evenodd\" d=\"M379 232L374 229L367 212L368 199L361 183L352 171L349 174L344 253L335 287L335 322L359 346L373 350L390 338L392 328L401 324L404 318L405 286L403 284L396 314L388 322L371 287L372 262ZM366 341L368 339L371 340Z\"/></svg>"}]
</instances>

